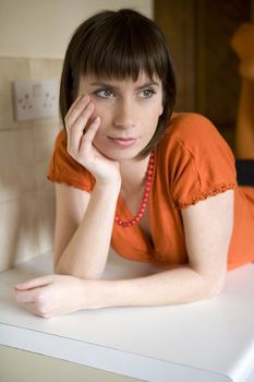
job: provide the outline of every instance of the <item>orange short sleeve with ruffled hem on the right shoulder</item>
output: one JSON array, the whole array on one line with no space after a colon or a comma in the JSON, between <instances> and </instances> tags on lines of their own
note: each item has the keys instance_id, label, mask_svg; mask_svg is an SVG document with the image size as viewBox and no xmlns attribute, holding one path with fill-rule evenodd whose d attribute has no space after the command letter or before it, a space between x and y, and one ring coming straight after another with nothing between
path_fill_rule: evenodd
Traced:
<instances>
[{"instance_id":1,"label":"orange short sleeve with ruffled hem on the right shoulder","mask_svg":"<svg viewBox=\"0 0 254 382\"><path fill-rule=\"evenodd\" d=\"M169 177L177 208L234 189L234 157L213 123L199 115L184 115L173 124Z\"/></svg>"}]
</instances>

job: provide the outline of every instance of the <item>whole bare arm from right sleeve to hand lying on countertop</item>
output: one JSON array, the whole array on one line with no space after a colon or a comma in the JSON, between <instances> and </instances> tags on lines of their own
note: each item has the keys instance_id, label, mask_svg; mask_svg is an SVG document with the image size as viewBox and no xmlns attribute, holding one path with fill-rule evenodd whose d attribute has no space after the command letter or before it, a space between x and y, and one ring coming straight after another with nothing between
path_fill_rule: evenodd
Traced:
<instances>
[{"instance_id":1,"label":"whole bare arm from right sleeve to hand lying on countertop","mask_svg":"<svg viewBox=\"0 0 254 382\"><path fill-rule=\"evenodd\" d=\"M16 286L17 300L36 314L49 318L80 309L176 305L217 295L227 271L233 191L190 206L182 216L190 259L185 266L126 280L40 277Z\"/></svg>"}]
</instances>

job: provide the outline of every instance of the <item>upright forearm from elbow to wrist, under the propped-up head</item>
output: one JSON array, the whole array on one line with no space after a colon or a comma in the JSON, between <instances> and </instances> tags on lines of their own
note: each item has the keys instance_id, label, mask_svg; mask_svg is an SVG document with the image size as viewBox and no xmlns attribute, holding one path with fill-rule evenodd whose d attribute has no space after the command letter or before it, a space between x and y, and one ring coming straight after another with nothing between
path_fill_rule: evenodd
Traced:
<instances>
[{"instance_id":1,"label":"upright forearm from elbow to wrist, under the propped-up head","mask_svg":"<svg viewBox=\"0 0 254 382\"><path fill-rule=\"evenodd\" d=\"M96 183L85 215L69 244L55 264L55 271L82 278L99 278L110 246L120 184Z\"/></svg>"}]
</instances>

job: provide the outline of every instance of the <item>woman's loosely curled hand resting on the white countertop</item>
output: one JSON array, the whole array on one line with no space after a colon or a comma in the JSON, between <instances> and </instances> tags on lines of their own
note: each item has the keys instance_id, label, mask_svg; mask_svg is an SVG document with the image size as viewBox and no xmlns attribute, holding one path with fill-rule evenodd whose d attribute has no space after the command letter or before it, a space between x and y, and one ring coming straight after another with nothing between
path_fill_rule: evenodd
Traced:
<instances>
[{"instance_id":1,"label":"woman's loosely curled hand resting on the white countertop","mask_svg":"<svg viewBox=\"0 0 254 382\"><path fill-rule=\"evenodd\" d=\"M92 284L93 280L73 276L48 275L15 285L15 298L31 312L49 319L94 308L89 299L93 296Z\"/></svg>"}]
</instances>

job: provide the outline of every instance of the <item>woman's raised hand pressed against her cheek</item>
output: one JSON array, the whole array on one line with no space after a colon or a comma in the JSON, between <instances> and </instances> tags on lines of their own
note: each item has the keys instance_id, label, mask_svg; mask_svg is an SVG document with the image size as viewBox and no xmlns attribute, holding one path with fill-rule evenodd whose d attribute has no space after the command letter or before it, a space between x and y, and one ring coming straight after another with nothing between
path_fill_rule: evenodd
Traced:
<instances>
[{"instance_id":1,"label":"woman's raised hand pressed against her cheek","mask_svg":"<svg viewBox=\"0 0 254 382\"><path fill-rule=\"evenodd\" d=\"M120 179L119 164L106 158L94 145L93 140L100 126L100 118L93 117L95 104L89 96L80 96L65 116L68 153L96 180Z\"/></svg>"}]
</instances>

